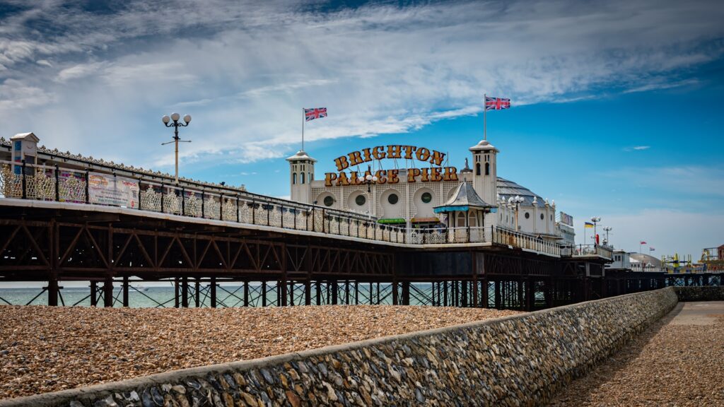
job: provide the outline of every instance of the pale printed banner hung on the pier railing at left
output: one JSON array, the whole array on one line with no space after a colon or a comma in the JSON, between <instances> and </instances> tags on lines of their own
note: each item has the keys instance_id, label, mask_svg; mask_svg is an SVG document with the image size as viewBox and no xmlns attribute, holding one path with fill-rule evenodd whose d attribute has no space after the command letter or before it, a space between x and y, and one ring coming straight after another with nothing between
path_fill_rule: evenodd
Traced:
<instances>
[{"instance_id":1,"label":"pale printed banner hung on the pier railing at left","mask_svg":"<svg viewBox=\"0 0 724 407\"><path fill-rule=\"evenodd\" d=\"M138 208L138 181L126 177L91 172L88 198L91 204Z\"/></svg>"}]
</instances>

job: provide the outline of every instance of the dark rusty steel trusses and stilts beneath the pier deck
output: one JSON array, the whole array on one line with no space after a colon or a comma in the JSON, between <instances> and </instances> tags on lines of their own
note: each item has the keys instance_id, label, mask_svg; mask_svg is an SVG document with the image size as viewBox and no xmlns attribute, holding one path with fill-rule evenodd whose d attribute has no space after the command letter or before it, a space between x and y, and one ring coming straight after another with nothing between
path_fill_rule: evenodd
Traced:
<instances>
[{"instance_id":1,"label":"dark rusty steel trusses and stilts beneath the pier deck","mask_svg":"<svg viewBox=\"0 0 724 407\"><path fill-rule=\"evenodd\" d=\"M132 306L135 296L159 307L384 303L533 310L663 285L724 284L718 275L605 275L605 261L506 246L401 247L92 207L0 208L0 281L47 282L28 303L51 306ZM68 281L89 282L88 295L65 301L62 282ZM149 281L172 285L172 295L152 298L134 286ZM0 303L10 302L0 293Z\"/></svg>"}]
</instances>

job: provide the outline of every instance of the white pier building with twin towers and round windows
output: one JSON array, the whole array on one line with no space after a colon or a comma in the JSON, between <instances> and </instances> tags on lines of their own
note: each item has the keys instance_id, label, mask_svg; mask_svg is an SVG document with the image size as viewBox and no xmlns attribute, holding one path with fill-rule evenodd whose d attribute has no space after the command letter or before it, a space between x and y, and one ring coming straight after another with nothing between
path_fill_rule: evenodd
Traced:
<instances>
[{"instance_id":1,"label":"white pier building with twin towers and round windows","mask_svg":"<svg viewBox=\"0 0 724 407\"><path fill-rule=\"evenodd\" d=\"M481 140L469 152L471 161L466 158L458 171L445 165L446 154L439 151L374 146L334 159L337 172L319 179L316 159L300 150L287 158L291 199L367 214L379 223L408 229L495 226L574 244L573 219L557 214L555 201L497 175L496 147ZM462 183L471 188L461 189ZM461 205L461 194L463 200L479 204Z\"/></svg>"}]
</instances>

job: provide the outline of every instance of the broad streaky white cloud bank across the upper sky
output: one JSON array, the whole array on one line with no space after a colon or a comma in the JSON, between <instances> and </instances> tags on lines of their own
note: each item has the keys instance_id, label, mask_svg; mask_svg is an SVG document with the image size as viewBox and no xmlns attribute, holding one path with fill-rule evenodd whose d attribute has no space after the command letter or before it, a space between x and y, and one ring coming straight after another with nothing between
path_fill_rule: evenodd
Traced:
<instances>
[{"instance_id":1,"label":"broad streaky white cloud bank across the upper sky","mask_svg":"<svg viewBox=\"0 0 724 407\"><path fill-rule=\"evenodd\" d=\"M45 97L31 106L23 92L7 93L0 114L25 106L35 109L25 117L37 117L43 103L59 101L52 109L62 127L25 117L6 125L52 135L43 140L52 146L159 166L171 154L159 159L157 149L138 146L166 137L157 118L183 109L194 116L183 159L248 162L295 148L302 107L329 109L308 124L307 140L405 133L479 113L482 93L520 106L590 98L607 84L628 91L691 85L670 76L723 52L712 42L724 36L716 1L307 8L132 1L96 17L42 4L3 21L0 64L14 68L0 75L25 84L25 95L35 88ZM41 17L54 35L33 34L29 21ZM37 60L53 67L15 69ZM119 125L108 125L118 117Z\"/></svg>"}]
</instances>

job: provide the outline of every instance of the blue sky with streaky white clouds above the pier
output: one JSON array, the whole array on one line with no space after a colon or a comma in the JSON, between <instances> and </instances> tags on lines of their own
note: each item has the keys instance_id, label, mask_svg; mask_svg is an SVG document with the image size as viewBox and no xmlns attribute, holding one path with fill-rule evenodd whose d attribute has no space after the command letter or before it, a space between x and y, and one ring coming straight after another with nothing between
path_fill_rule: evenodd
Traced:
<instances>
[{"instance_id":1,"label":"blue sky with streaky white clouds above the pier","mask_svg":"<svg viewBox=\"0 0 724 407\"><path fill-rule=\"evenodd\" d=\"M724 244L724 5L712 1L3 1L0 136L289 196L303 107L319 162L413 144L652 254ZM600 233L600 231L599 231ZM588 234L590 236L590 233Z\"/></svg>"}]
</instances>

